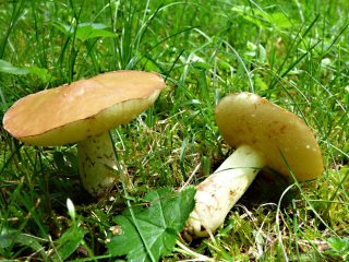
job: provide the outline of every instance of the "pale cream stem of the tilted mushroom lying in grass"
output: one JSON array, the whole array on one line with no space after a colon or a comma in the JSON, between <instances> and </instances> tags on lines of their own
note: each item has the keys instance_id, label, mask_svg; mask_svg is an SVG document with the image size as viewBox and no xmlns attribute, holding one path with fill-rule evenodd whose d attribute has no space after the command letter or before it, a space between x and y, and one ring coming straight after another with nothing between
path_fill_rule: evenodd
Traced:
<instances>
[{"instance_id":1,"label":"pale cream stem of the tilted mushroom lying in grass","mask_svg":"<svg viewBox=\"0 0 349 262\"><path fill-rule=\"evenodd\" d=\"M221 226L264 165L260 152L249 145L239 146L197 186L196 203L186 222L186 231L193 237L206 237Z\"/></svg>"}]
</instances>

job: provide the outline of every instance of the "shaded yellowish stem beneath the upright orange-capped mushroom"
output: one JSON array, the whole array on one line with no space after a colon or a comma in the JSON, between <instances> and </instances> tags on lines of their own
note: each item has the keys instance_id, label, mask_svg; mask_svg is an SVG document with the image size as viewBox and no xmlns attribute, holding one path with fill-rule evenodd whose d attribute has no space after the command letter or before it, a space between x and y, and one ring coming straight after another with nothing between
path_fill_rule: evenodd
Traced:
<instances>
[{"instance_id":1,"label":"shaded yellowish stem beneath the upright orange-capped mushroom","mask_svg":"<svg viewBox=\"0 0 349 262\"><path fill-rule=\"evenodd\" d=\"M108 132L77 143L79 170L83 187L95 196L106 193L118 176L118 163Z\"/></svg>"}]
</instances>

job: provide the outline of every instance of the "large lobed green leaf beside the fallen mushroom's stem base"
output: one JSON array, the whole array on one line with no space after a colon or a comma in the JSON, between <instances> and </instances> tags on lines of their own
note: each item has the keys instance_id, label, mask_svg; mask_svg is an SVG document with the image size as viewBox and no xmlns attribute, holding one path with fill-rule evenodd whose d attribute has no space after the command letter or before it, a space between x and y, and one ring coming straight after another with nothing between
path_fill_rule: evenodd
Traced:
<instances>
[{"instance_id":1,"label":"large lobed green leaf beside the fallen mushroom's stem base","mask_svg":"<svg viewBox=\"0 0 349 262\"><path fill-rule=\"evenodd\" d=\"M108 243L112 255L127 254L129 261L158 261L172 252L177 235L194 209L195 188L189 187L181 192L158 189L148 193L148 209L130 207L117 216L121 234Z\"/></svg>"}]
</instances>

